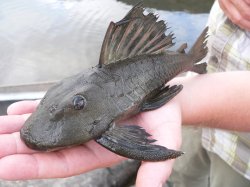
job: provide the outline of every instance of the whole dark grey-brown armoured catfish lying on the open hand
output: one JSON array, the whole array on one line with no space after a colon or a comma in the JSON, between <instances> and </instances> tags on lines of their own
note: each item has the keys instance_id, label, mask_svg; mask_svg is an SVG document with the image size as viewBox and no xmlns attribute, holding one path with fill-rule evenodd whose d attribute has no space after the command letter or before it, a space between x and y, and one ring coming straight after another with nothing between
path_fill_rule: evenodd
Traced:
<instances>
[{"instance_id":1,"label":"whole dark grey-brown armoured catfish lying on the open hand","mask_svg":"<svg viewBox=\"0 0 250 187\"><path fill-rule=\"evenodd\" d=\"M181 151L155 145L141 127L115 123L163 106L182 85L165 83L185 71L206 72L197 64L207 54L207 28L186 54L176 52L166 25L136 5L119 22L111 22L99 65L66 78L48 90L21 129L21 138L36 150L55 150L94 139L107 149L137 160L176 158ZM153 119L152 119L153 120Z\"/></svg>"}]
</instances>

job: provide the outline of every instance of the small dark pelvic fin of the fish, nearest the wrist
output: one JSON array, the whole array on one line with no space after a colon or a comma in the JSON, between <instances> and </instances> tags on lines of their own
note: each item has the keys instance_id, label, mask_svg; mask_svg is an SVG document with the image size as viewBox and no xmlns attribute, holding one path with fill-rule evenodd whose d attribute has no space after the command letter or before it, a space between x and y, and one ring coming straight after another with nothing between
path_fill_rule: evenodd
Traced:
<instances>
[{"instance_id":1,"label":"small dark pelvic fin of the fish, nearest the wrist","mask_svg":"<svg viewBox=\"0 0 250 187\"><path fill-rule=\"evenodd\" d=\"M162 107L174 98L182 90L182 88L182 85L164 87L153 98L150 98L142 104L141 111L150 111Z\"/></svg>"}]
</instances>

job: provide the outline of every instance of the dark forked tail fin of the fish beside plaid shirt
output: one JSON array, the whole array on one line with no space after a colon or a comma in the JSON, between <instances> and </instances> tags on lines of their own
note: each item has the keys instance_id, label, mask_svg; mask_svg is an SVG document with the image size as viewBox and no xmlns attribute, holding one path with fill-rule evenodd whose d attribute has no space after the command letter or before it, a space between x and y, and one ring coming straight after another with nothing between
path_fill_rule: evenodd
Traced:
<instances>
[{"instance_id":1,"label":"dark forked tail fin of the fish beside plaid shirt","mask_svg":"<svg viewBox=\"0 0 250 187\"><path fill-rule=\"evenodd\" d=\"M197 63L200 62L207 55L208 52L207 41L206 41L208 37L207 32L208 32L208 27L206 27L202 31L201 35L196 40L193 47L188 52L188 54L193 57L194 61L194 66L191 71L194 71L199 74L206 73L206 63L201 63L201 64Z\"/></svg>"}]
</instances>

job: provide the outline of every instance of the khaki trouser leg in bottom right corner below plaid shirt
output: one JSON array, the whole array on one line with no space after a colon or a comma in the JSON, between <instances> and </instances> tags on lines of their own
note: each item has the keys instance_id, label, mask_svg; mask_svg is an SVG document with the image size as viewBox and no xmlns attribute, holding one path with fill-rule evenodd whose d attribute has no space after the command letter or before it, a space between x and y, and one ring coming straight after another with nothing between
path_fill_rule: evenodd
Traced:
<instances>
[{"instance_id":1,"label":"khaki trouser leg in bottom right corner below plaid shirt","mask_svg":"<svg viewBox=\"0 0 250 187\"><path fill-rule=\"evenodd\" d=\"M235 171L218 155L209 152L211 160L210 184L211 187L249 187L250 180Z\"/></svg>"}]
</instances>

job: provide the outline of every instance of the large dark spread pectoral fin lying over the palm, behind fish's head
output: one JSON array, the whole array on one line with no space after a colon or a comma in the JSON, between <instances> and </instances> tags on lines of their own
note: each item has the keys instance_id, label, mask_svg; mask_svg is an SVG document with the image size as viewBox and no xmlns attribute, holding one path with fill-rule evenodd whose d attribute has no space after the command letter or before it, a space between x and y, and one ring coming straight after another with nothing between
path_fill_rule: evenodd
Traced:
<instances>
[{"instance_id":1,"label":"large dark spread pectoral fin lying over the palm, behind fish's head","mask_svg":"<svg viewBox=\"0 0 250 187\"><path fill-rule=\"evenodd\" d=\"M136 125L113 125L96 139L96 142L116 154L135 160L160 161L183 154L181 151L151 144L156 140L150 139L150 136L142 127Z\"/></svg>"}]
</instances>

